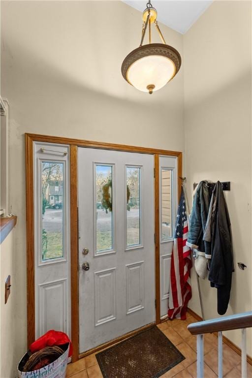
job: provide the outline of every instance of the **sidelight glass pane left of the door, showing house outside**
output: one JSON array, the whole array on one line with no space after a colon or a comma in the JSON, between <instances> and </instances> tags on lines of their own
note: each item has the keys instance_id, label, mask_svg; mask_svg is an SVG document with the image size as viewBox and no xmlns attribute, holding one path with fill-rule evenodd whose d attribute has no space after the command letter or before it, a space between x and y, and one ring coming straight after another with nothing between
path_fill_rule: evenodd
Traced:
<instances>
[{"instance_id":1,"label":"sidelight glass pane left of the door, showing house outside","mask_svg":"<svg viewBox=\"0 0 252 378\"><path fill-rule=\"evenodd\" d=\"M42 261L63 257L63 163L42 161Z\"/></svg>"}]
</instances>

